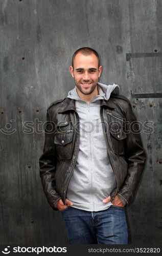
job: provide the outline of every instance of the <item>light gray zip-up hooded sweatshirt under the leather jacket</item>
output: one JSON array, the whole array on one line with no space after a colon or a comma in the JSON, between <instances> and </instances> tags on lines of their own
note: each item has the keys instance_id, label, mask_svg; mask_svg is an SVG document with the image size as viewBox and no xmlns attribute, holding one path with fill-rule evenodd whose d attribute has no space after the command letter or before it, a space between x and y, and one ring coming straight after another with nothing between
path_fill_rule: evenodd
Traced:
<instances>
[{"instance_id":1,"label":"light gray zip-up hooded sweatshirt under the leather jacket","mask_svg":"<svg viewBox=\"0 0 162 256\"><path fill-rule=\"evenodd\" d=\"M81 99L76 87L68 98L76 100L80 121L79 153L73 176L68 184L66 197L73 206L87 211L105 210L111 202L102 201L117 187L117 180L107 155L107 146L100 118L101 99L108 100L111 92L120 93L118 84L98 82L98 92L89 103Z\"/></svg>"}]
</instances>

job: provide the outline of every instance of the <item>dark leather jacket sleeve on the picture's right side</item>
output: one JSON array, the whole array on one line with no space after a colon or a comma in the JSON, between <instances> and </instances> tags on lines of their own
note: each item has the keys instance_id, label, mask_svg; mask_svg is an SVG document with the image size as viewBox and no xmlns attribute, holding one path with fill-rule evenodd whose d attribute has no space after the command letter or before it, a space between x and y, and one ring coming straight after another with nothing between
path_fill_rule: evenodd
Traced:
<instances>
[{"instance_id":1,"label":"dark leather jacket sleeve on the picture's right side","mask_svg":"<svg viewBox=\"0 0 162 256\"><path fill-rule=\"evenodd\" d=\"M133 198L146 163L146 153L140 134L141 130L139 131L140 122L136 121L130 103L128 103L126 121L126 130L128 133L125 140L125 159L128 163L128 170L125 181L118 192L124 204L128 204Z\"/></svg>"}]
</instances>

